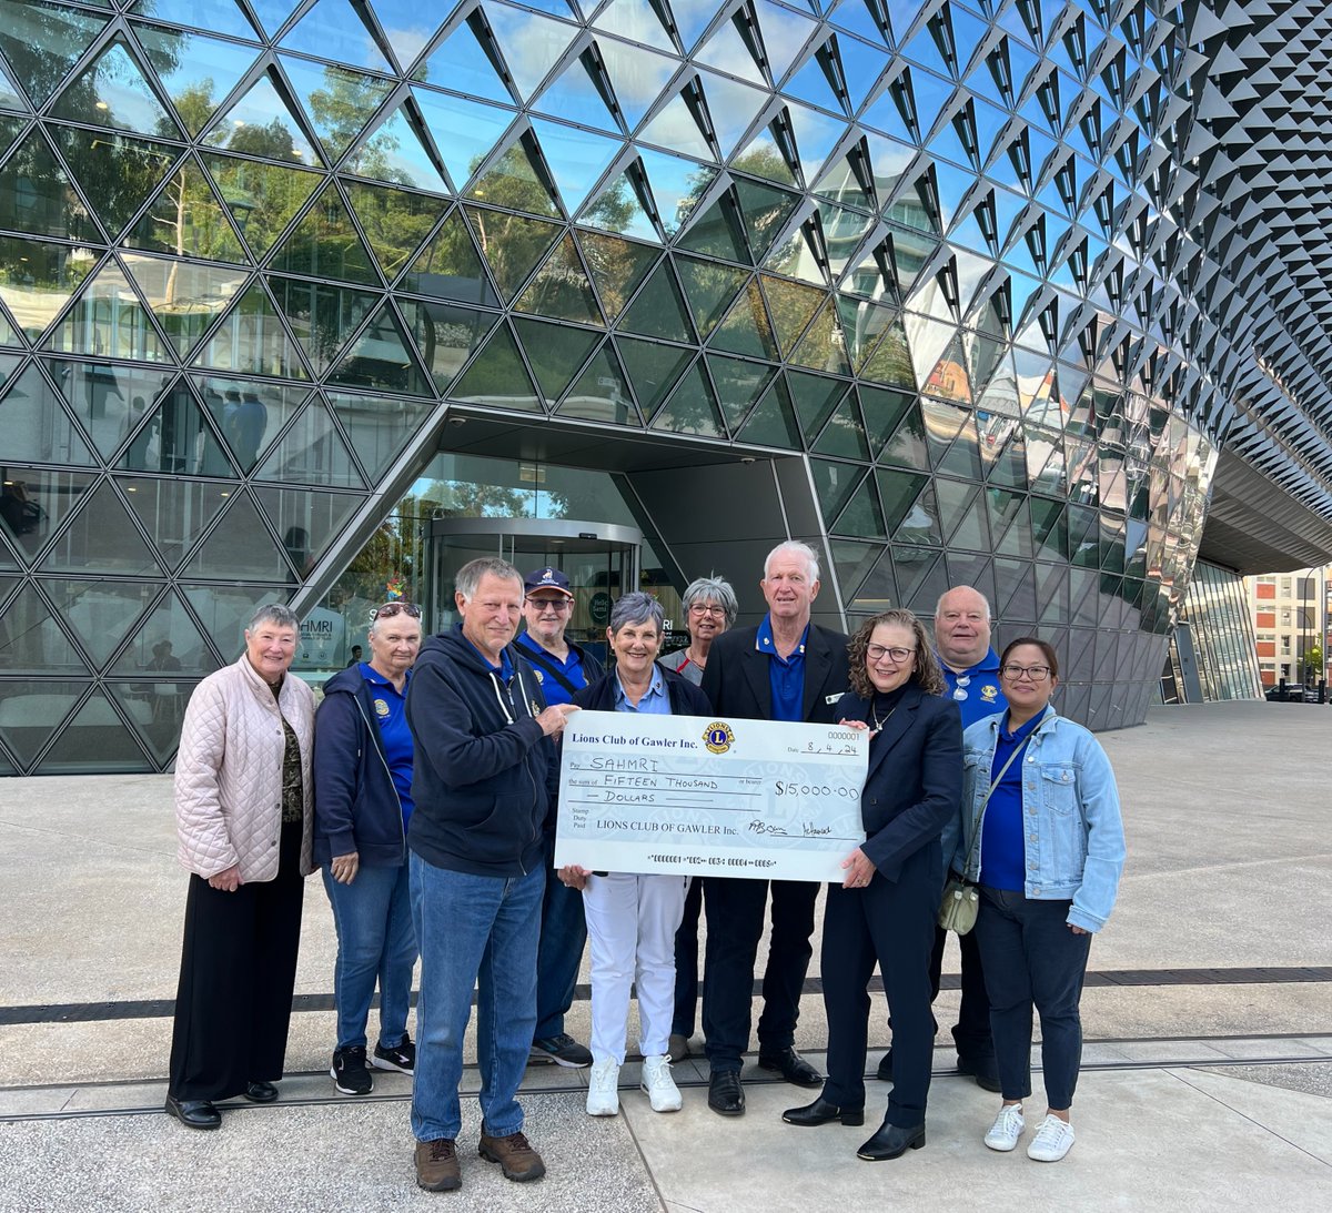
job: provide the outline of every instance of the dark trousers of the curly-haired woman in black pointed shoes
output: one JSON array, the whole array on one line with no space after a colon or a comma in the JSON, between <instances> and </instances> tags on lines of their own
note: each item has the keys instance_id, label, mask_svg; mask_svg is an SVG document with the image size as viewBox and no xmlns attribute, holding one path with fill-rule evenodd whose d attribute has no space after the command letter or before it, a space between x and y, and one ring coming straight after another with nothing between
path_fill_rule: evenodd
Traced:
<instances>
[{"instance_id":1,"label":"dark trousers of the curly-haired woman in black pointed shoes","mask_svg":"<svg viewBox=\"0 0 1332 1213\"><path fill-rule=\"evenodd\" d=\"M887 1122L924 1121L934 1060L930 953L943 892L939 843L922 847L895 881L878 872L863 889L829 885L823 912L823 1005L829 1016L829 1077L823 1098L864 1106L870 977L878 963L892 1017L892 1092Z\"/></svg>"}]
</instances>

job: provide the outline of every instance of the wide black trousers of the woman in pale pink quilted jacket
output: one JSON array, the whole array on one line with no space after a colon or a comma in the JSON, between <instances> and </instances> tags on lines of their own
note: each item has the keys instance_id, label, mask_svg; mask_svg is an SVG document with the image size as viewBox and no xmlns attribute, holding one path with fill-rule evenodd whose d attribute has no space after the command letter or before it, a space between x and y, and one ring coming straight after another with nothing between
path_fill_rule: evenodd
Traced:
<instances>
[{"instance_id":1,"label":"wide black trousers of the woman in pale pink quilted jacket","mask_svg":"<svg viewBox=\"0 0 1332 1213\"><path fill-rule=\"evenodd\" d=\"M170 1043L178 1100L226 1100L282 1077L301 941L301 823L282 826L273 880L226 893L189 877Z\"/></svg>"}]
</instances>

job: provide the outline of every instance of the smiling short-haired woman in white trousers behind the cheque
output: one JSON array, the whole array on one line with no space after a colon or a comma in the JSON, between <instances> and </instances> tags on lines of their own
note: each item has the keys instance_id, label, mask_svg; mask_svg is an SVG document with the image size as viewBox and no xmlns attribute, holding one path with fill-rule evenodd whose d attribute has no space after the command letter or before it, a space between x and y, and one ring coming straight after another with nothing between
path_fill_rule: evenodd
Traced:
<instances>
[{"instance_id":1,"label":"smiling short-haired woman in white trousers behind the cheque","mask_svg":"<svg viewBox=\"0 0 1332 1213\"><path fill-rule=\"evenodd\" d=\"M707 698L693 683L657 664L665 616L650 594L625 594L610 612L606 639L615 666L573 702L602 712L706 716ZM675 928L685 909L686 876L590 872L559 868L559 879L583 891L591 947L591 1077L587 1114L619 1112L619 1067L625 1061L629 988L638 985L638 1047L642 1089L654 1112L678 1112L679 1089L670 1076L671 1016L675 1009Z\"/></svg>"}]
</instances>

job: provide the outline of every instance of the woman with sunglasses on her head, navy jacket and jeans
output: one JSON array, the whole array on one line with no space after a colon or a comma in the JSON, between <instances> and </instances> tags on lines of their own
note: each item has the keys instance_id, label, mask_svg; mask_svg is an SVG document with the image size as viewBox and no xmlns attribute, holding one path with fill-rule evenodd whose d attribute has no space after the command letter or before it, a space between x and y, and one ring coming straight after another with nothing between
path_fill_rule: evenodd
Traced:
<instances>
[{"instance_id":1,"label":"woman with sunglasses on her head, navy jacket and jeans","mask_svg":"<svg viewBox=\"0 0 1332 1213\"><path fill-rule=\"evenodd\" d=\"M314 731L314 863L337 928L333 1001L337 1047L329 1075L342 1094L369 1094L366 1060L410 1075L408 1036L416 928L408 888L412 816L410 668L421 648L421 608L389 602L370 615L370 660L329 679ZM365 1035L380 985L380 1039Z\"/></svg>"}]
</instances>

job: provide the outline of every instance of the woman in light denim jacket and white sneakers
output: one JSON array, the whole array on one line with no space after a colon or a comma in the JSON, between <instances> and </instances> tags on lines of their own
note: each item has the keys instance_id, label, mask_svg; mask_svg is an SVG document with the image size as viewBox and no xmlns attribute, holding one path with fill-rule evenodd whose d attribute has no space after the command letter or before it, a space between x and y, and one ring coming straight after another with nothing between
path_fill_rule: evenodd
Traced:
<instances>
[{"instance_id":1,"label":"woman in light denim jacket and white sneakers","mask_svg":"<svg viewBox=\"0 0 1332 1213\"><path fill-rule=\"evenodd\" d=\"M963 736L962 812L943 851L954 871L980 887L975 932L1003 1089L984 1141L1011 1150L1026 1126L1035 1005L1048 1106L1027 1156L1039 1162L1058 1162L1074 1144L1078 1004L1091 936L1110 917L1124 868L1115 774L1100 743L1050 706L1058 675L1044 640L1022 636L1003 651L1008 711Z\"/></svg>"}]
</instances>

